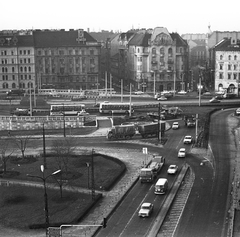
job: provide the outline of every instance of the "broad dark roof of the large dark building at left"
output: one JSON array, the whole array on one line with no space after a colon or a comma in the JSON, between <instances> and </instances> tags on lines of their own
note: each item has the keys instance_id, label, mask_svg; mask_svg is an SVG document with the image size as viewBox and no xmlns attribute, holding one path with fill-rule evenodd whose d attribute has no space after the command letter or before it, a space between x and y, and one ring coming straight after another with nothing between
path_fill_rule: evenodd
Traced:
<instances>
[{"instance_id":1,"label":"broad dark roof of the large dark building at left","mask_svg":"<svg viewBox=\"0 0 240 237\"><path fill-rule=\"evenodd\" d=\"M79 46L78 30L59 30L59 31L33 31L35 47L62 47L62 46ZM97 42L90 34L83 31L83 38L85 42Z\"/></svg>"}]
</instances>

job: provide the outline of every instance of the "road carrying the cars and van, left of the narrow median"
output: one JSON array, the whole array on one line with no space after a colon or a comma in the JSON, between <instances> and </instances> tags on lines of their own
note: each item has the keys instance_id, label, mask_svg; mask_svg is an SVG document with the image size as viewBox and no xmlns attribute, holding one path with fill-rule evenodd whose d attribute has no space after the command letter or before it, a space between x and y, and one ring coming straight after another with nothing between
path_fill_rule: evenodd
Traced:
<instances>
[{"instance_id":1,"label":"road carrying the cars and van, left of the narrow median","mask_svg":"<svg viewBox=\"0 0 240 237\"><path fill-rule=\"evenodd\" d=\"M183 138L185 135L194 136L195 129L189 129L184 126L183 121L180 122L179 130L169 130L166 133L168 138L163 148L148 147L152 153L158 153L166 158L166 164L160 171L158 177L167 177L169 181L169 191L165 195L154 194L154 183L143 183L140 181L131 189L121 205L114 211L108 220L107 228L101 229L98 237L115 237L115 236L145 236L151 225L153 224L157 214L161 211L161 207L171 191L171 187L177 176L167 175L167 168L170 164L177 164L179 168L183 166L187 158L178 158L177 153L181 147L185 147L189 152L191 145L184 145ZM121 142L121 145L128 147L127 143ZM147 145L146 145L147 146ZM137 157L136 157L137 159ZM142 202L151 202L154 204L154 212L150 218L139 218L138 210Z\"/></svg>"}]
</instances>

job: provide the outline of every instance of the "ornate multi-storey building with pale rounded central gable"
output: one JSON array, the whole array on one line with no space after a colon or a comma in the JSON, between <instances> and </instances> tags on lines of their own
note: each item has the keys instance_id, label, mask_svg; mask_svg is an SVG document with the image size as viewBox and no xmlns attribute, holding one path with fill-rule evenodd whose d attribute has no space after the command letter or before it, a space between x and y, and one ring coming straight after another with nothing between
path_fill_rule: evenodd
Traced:
<instances>
[{"instance_id":1,"label":"ornate multi-storey building with pale rounded central gable","mask_svg":"<svg viewBox=\"0 0 240 237\"><path fill-rule=\"evenodd\" d=\"M128 64L138 90L188 88L188 44L164 27L137 32L128 43Z\"/></svg>"}]
</instances>

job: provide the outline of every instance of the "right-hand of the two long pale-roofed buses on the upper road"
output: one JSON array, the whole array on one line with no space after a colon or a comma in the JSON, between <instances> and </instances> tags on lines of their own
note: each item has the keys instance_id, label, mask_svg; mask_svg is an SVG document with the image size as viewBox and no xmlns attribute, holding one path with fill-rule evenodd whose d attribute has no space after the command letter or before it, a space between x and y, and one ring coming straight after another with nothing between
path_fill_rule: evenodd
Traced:
<instances>
[{"instance_id":1,"label":"right-hand of the two long pale-roofed buses on the upper road","mask_svg":"<svg viewBox=\"0 0 240 237\"><path fill-rule=\"evenodd\" d=\"M110 103L108 101L104 101L99 105L99 113L100 114L130 114L134 112L133 105L130 103Z\"/></svg>"}]
</instances>

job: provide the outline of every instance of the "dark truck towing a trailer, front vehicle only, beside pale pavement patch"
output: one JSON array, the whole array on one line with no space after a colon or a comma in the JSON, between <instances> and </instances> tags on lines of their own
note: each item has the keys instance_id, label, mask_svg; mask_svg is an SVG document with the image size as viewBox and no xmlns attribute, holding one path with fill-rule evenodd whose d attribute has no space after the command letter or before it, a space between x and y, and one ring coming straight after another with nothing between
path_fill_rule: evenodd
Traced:
<instances>
[{"instance_id":1,"label":"dark truck towing a trailer, front vehicle only, beside pale pavement patch","mask_svg":"<svg viewBox=\"0 0 240 237\"><path fill-rule=\"evenodd\" d=\"M108 140L114 139L130 139L136 133L135 125L127 124L127 125L116 125L113 126L107 133Z\"/></svg>"}]
</instances>

